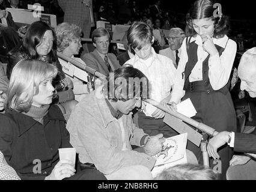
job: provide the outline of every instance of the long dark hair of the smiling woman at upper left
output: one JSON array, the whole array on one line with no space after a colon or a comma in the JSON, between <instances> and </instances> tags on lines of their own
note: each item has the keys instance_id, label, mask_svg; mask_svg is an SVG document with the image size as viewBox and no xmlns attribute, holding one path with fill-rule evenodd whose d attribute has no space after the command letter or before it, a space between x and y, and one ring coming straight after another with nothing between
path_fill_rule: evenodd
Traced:
<instances>
[{"instance_id":1,"label":"long dark hair of the smiling woman at upper left","mask_svg":"<svg viewBox=\"0 0 256 192\"><path fill-rule=\"evenodd\" d=\"M22 40L22 46L20 47L20 50L26 53L30 59L39 59L40 55L38 55L36 49L40 45L44 33L48 30L52 31L53 45L52 50L50 50L50 52L47 54L46 59L47 62L55 64L58 59L56 55L56 34L55 31L44 22L34 22L31 24L31 26L29 26L28 31L26 32L26 35Z\"/></svg>"}]
</instances>

